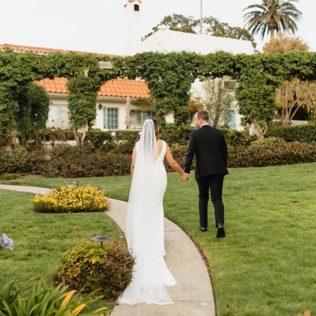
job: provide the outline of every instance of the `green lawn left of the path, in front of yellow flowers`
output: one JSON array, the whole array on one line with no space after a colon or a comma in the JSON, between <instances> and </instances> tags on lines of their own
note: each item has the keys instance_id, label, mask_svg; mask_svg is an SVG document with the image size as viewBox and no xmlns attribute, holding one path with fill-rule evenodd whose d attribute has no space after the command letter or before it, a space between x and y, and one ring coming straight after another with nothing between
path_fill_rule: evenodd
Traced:
<instances>
[{"instance_id":1,"label":"green lawn left of the path, in front of yellow flowers","mask_svg":"<svg viewBox=\"0 0 316 316\"><path fill-rule=\"evenodd\" d=\"M103 233L121 242L116 223L105 213L40 214L33 212L29 199L34 194L0 190L0 234L14 241L14 250L0 249L0 287L16 279L21 285L33 276L52 283L58 271L61 254L77 245L79 240L91 240ZM112 303L97 301L91 308Z\"/></svg>"}]
</instances>

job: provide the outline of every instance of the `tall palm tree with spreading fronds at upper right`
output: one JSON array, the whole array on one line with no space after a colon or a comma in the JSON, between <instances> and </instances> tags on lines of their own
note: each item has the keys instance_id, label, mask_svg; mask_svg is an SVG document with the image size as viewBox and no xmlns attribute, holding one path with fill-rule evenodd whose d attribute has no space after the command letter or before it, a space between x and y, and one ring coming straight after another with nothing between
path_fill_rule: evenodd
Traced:
<instances>
[{"instance_id":1,"label":"tall palm tree with spreading fronds at upper right","mask_svg":"<svg viewBox=\"0 0 316 316\"><path fill-rule=\"evenodd\" d=\"M262 0L261 4L253 4L247 9L256 8L257 10L248 12L244 15L244 20L247 21L248 31L252 30L251 34L258 34L261 30L262 40L264 33L270 31L270 39L274 38L274 30L297 31L296 21L301 20L302 12L296 9L293 2L298 0Z\"/></svg>"}]
</instances>

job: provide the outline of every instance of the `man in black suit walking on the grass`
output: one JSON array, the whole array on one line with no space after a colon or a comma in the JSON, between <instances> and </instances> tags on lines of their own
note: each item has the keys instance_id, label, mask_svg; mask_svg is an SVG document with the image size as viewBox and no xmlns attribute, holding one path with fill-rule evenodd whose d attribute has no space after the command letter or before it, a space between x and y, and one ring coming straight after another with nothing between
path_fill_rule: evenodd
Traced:
<instances>
[{"instance_id":1,"label":"man in black suit walking on the grass","mask_svg":"<svg viewBox=\"0 0 316 316\"><path fill-rule=\"evenodd\" d=\"M225 137L222 131L210 127L207 111L198 111L194 116L194 121L198 129L190 133L183 170L190 173L195 154L195 180L199 190L199 230L207 231L207 204L210 190L215 210L216 236L225 237L224 204L222 202L224 175L228 174L226 168L228 152Z\"/></svg>"}]
</instances>

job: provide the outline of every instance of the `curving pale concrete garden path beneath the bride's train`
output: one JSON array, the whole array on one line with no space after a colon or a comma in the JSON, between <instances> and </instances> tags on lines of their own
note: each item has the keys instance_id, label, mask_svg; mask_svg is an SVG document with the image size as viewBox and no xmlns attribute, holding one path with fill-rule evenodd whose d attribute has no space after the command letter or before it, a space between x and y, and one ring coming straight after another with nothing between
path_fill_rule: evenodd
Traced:
<instances>
[{"instance_id":1,"label":"curving pale concrete garden path beneath the bride's train","mask_svg":"<svg viewBox=\"0 0 316 316\"><path fill-rule=\"evenodd\" d=\"M49 189L0 185L0 189L44 194ZM118 224L126 238L127 202L110 199L111 209L106 214ZM178 282L167 291L172 305L126 304L116 305L111 316L215 316L212 285L202 257L191 239L173 222L164 218L166 264ZM202 234L202 233L201 233Z\"/></svg>"}]
</instances>

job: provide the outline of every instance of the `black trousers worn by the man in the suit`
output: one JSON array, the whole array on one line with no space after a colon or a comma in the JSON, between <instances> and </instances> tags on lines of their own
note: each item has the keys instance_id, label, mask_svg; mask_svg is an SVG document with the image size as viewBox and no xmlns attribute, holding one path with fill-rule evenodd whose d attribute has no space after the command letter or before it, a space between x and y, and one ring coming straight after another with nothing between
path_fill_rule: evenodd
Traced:
<instances>
[{"instance_id":1,"label":"black trousers worn by the man in the suit","mask_svg":"<svg viewBox=\"0 0 316 316\"><path fill-rule=\"evenodd\" d=\"M215 210L215 226L224 224L224 204L222 202L223 174L210 174L197 179L199 190L198 210L200 213L200 226L207 227L207 204L209 202L209 191L211 201Z\"/></svg>"}]
</instances>

